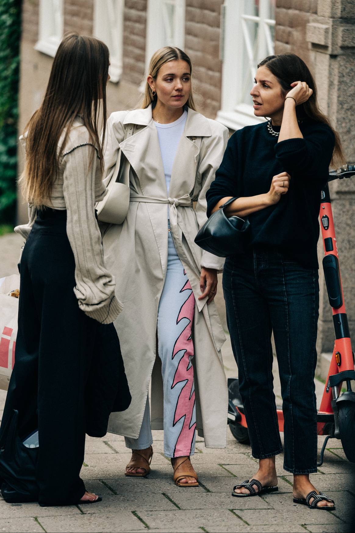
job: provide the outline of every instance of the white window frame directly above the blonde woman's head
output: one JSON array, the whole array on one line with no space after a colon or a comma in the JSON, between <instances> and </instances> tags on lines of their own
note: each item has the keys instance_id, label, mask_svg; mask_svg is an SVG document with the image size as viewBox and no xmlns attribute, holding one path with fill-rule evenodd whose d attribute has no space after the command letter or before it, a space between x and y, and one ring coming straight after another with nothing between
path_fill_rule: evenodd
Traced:
<instances>
[{"instance_id":1,"label":"white window frame directly above the blonde woman's head","mask_svg":"<svg viewBox=\"0 0 355 533\"><path fill-rule=\"evenodd\" d=\"M164 4L175 6L174 38L170 43L164 40ZM146 33L146 71L148 72L151 56L163 46L185 46L185 0L148 0ZM145 80L142 85L145 85Z\"/></svg>"}]
</instances>

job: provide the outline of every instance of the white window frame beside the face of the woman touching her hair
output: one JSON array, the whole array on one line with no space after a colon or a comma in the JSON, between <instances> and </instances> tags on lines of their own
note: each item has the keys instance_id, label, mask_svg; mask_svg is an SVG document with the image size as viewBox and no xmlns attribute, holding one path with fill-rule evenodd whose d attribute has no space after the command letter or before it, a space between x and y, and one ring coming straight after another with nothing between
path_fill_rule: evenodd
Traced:
<instances>
[{"instance_id":1,"label":"white window frame beside the face of the woman touching her hair","mask_svg":"<svg viewBox=\"0 0 355 533\"><path fill-rule=\"evenodd\" d=\"M217 112L216 120L231 130L239 130L244 126L259 124L265 120L263 117L255 117L252 104L241 101L243 94L240 90L240 80L244 78L243 61L238 61L238 58L243 58L243 54L248 56L251 87L256 71L253 50L247 34L247 20L258 22L262 32L258 54L264 57L274 53L270 26L275 26L275 20L266 17L268 0L260 0L259 17L245 14L245 2L249 0L224 0L221 8L222 94L221 109ZM258 59L261 60L263 57L258 57Z\"/></svg>"}]
</instances>

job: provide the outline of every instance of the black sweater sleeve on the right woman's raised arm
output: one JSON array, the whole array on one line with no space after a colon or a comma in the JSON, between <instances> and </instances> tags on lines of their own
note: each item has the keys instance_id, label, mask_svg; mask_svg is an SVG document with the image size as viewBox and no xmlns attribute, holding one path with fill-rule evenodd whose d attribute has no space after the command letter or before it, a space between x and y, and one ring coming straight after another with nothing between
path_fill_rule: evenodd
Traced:
<instances>
[{"instance_id":1,"label":"black sweater sleeve on the right woman's raised arm","mask_svg":"<svg viewBox=\"0 0 355 533\"><path fill-rule=\"evenodd\" d=\"M287 139L275 144L276 158L290 174L297 175L306 168L307 174L324 176L324 166L329 166L334 142L333 131L326 124L319 124L303 139Z\"/></svg>"}]
</instances>

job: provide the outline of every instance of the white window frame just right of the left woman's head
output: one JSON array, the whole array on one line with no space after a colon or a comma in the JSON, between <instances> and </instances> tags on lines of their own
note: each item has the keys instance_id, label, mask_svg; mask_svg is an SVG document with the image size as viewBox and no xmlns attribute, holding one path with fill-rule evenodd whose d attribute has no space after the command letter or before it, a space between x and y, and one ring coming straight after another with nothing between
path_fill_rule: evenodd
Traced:
<instances>
[{"instance_id":1,"label":"white window frame just right of the left woman's head","mask_svg":"<svg viewBox=\"0 0 355 533\"><path fill-rule=\"evenodd\" d=\"M93 34L110 51L110 82L117 83L123 71L124 0L94 0Z\"/></svg>"}]
</instances>

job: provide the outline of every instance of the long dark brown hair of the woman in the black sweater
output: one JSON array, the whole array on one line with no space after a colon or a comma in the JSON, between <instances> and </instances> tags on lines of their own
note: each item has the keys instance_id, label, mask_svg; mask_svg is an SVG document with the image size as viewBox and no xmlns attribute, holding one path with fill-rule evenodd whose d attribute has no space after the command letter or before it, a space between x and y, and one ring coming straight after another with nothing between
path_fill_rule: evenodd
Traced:
<instances>
[{"instance_id":1,"label":"long dark brown hair of the woman in the black sweater","mask_svg":"<svg viewBox=\"0 0 355 533\"><path fill-rule=\"evenodd\" d=\"M342 165L345 162L345 158L340 135L334 130L329 118L319 109L316 82L314 82L313 76L305 62L299 58L298 55L287 53L269 55L258 64L257 68L259 67L267 67L270 72L277 77L284 95L286 95L288 91L291 91L291 84L297 80L306 82L306 84L309 85L313 90L313 93L306 102L296 107L297 119L308 117L315 122L327 124L327 126L329 126L330 130L332 130L335 135L335 146L330 165L333 167Z\"/></svg>"}]
</instances>

